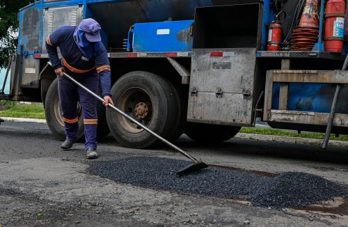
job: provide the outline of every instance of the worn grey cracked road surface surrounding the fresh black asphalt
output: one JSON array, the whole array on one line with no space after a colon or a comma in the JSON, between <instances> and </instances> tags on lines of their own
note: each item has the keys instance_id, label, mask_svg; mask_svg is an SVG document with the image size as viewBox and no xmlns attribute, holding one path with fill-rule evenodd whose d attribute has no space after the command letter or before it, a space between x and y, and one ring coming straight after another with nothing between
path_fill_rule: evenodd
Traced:
<instances>
[{"instance_id":1,"label":"worn grey cracked road surface surrounding the fresh black asphalt","mask_svg":"<svg viewBox=\"0 0 348 227\"><path fill-rule=\"evenodd\" d=\"M309 208L253 207L222 198L114 182L88 171L84 146L59 149L42 123L0 125L0 226L348 226L348 201ZM348 148L231 139L202 145L182 136L177 145L205 162L276 175L296 171L348 185ZM164 147L122 148L108 136L97 161L127 157L184 159Z\"/></svg>"}]
</instances>

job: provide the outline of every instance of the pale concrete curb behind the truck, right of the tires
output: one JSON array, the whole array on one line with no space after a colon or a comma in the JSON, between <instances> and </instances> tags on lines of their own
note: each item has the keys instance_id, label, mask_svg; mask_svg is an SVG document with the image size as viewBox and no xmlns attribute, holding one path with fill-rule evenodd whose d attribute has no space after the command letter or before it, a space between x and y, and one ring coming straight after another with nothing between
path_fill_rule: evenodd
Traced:
<instances>
[{"instance_id":1,"label":"pale concrete curb behind the truck, right of the tires","mask_svg":"<svg viewBox=\"0 0 348 227\"><path fill-rule=\"evenodd\" d=\"M235 136L235 139L253 139L257 141L271 141L271 142L280 142L280 143L296 143L296 144L307 144L321 146L322 139L308 139L308 138L299 138L299 137L290 137L290 136L273 136L273 135L260 135L260 134L246 134L238 133ZM331 147L348 147L348 141L329 141L329 146Z\"/></svg>"}]
</instances>

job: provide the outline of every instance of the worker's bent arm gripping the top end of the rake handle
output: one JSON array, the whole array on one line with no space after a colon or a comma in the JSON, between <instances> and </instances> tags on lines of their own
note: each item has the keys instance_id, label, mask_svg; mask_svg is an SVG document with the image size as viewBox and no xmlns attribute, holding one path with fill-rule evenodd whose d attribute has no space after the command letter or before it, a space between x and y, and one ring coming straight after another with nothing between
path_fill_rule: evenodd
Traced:
<instances>
[{"instance_id":1,"label":"worker's bent arm gripping the top end of the rake handle","mask_svg":"<svg viewBox=\"0 0 348 227\"><path fill-rule=\"evenodd\" d=\"M49 61L51 61L52 67L54 68L57 75L63 75L64 70L61 61L59 61L57 51L57 47L63 41L63 36L63 30L58 29L46 38L46 49L49 56Z\"/></svg>"}]
</instances>

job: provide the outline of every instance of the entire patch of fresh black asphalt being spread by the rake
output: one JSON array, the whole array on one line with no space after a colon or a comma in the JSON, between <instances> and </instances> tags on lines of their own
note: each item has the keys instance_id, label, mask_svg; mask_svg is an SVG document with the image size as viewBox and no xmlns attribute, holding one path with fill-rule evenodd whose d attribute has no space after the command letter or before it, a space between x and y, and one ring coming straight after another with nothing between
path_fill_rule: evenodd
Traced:
<instances>
[{"instance_id":1,"label":"entire patch of fresh black asphalt being spread by the rake","mask_svg":"<svg viewBox=\"0 0 348 227\"><path fill-rule=\"evenodd\" d=\"M129 157L113 162L92 162L92 173L116 182L228 198L246 198L255 206L287 208L329 201L348 195L340 185L308 173L282 173L275 178L209 167L178 177L191 164L177 159Z\"/></svg>"}]
</instances>

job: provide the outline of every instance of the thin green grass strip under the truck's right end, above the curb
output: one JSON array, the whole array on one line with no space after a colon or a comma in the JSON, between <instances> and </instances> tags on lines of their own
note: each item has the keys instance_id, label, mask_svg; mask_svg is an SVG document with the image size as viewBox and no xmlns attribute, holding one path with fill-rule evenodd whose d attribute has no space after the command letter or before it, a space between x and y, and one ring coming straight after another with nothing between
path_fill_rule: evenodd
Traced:
<instances>
[{"instance_id":1,"label":"thin green grass strip under the truck's right end, above the curb","mask_svg":"<svg viewBox=\"0 0 348 227\"><path fill-rule=\"evenodd\" d=\"M301 132L301 134L298 134L297 132L294 132L292 130L278 130L271 128L242 127L242 130L240 130L239 132L246 134L262 134L273 136L290 136L308 139L324 139L324 133ZM338 137L335 137L335 135L331 134L330 139L337 141L348 141L348 136L340 135Z\"/></svg>"}]
</instances>

